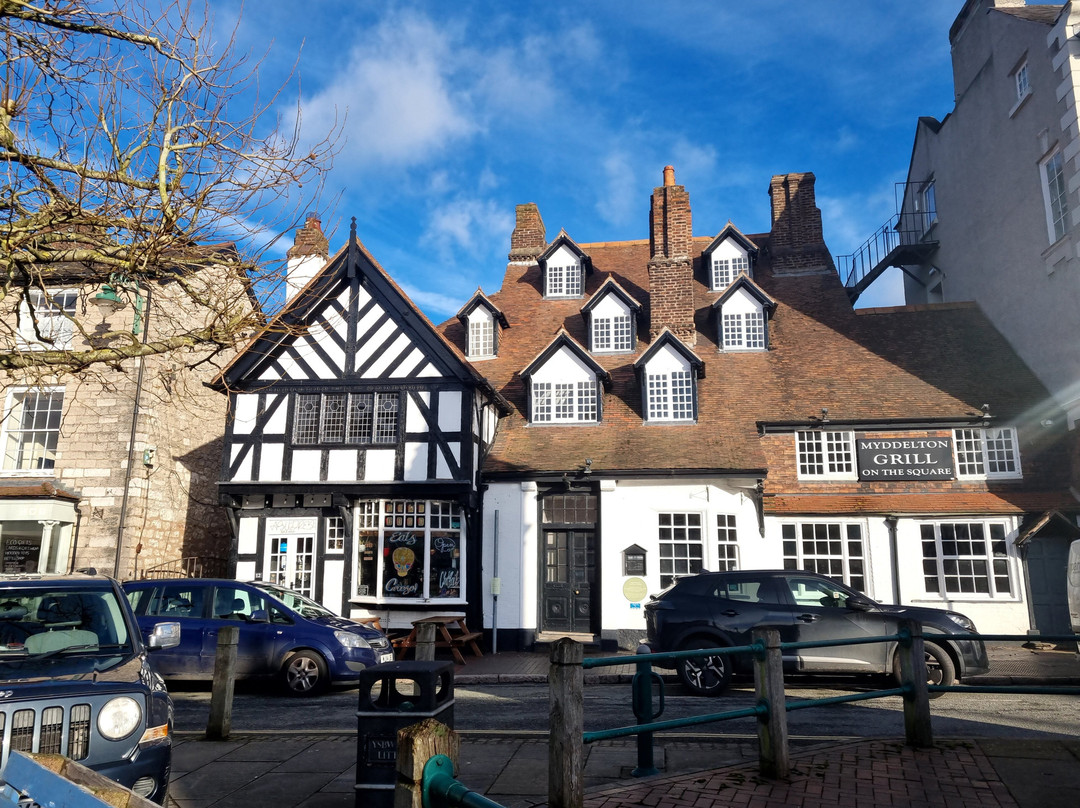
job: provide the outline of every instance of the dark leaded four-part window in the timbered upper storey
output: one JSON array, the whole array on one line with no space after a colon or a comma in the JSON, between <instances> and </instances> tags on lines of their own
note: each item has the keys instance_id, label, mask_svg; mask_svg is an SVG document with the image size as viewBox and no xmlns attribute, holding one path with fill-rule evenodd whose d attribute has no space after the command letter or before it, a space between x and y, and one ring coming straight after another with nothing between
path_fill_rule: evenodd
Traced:
<instances>
[{"instance_id":1,"label":"dark leaded four-part window in the timbered upper storey","mask_svg":"<svg viewBox=\"0 0 1080 808\"><path fill-rule=\"evenodd\" d=\"M293 443L396 443L397 414L397 393L297 393Z\"/></svg>"}]
</instances>

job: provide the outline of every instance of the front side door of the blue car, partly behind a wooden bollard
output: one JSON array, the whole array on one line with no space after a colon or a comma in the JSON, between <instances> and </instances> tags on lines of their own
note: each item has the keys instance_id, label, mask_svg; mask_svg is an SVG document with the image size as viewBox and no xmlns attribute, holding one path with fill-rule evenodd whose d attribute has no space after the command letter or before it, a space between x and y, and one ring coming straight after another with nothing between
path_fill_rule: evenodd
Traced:
<instances>
[{"instance_id":1,"label":"front side door of the blue car, partly behind a wooden bollard","mask_svg":"<svg viewBox=\"0 0 1080 808\"><path fill-rule=\"evenodd\" d=\"M222 627L238 629L237 675L261 676L276 673L275 641L278 627L269 622L267 601L253 587L218 584L214 587L213 608L202 637L203 665L213 675L218 634ZM259 612L259 614L256 614Z\"/></svg>"}]
</instances>

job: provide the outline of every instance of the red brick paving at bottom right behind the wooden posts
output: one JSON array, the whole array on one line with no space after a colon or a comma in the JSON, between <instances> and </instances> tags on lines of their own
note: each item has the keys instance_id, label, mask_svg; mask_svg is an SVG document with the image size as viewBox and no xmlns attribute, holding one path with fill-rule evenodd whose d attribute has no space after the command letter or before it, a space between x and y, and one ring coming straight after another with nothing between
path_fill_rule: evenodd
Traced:
<instances>
[{"instance_id":1,"label":"red brick paving at bottom right behind the wooden posts","mask_svg":"<svg viewBox=\"0 0 1080 808\"><path fill-rule=\"evenodd\" d=\"M989 759L971 742L912 750L895 741L858 741L792 756L787 780L740 765L658 777L591 792L586 808L1016 808Z\"/></svg>"}]
</instances>

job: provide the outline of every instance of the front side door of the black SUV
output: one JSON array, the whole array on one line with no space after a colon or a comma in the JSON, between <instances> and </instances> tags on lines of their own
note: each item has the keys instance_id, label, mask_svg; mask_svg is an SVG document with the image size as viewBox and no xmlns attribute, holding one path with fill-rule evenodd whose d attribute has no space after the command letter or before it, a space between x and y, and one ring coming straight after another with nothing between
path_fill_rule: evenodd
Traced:
<instances>
[{"instance_id":1,"label":"front side door of the black SUV","mask_svg":"<svg viewBox=\"0 0 1080 808\"><path fill-rule=\"evenodd\" d=\"M880 612L848 605L848 597L854 592L847 587L814 576L788 575L784 580L791 597L794 642L853 639L889 633ZM800 648L795 652L796 670L883 673L889 670L887 651L886 643Z\"/></svg>"}]
</instances>

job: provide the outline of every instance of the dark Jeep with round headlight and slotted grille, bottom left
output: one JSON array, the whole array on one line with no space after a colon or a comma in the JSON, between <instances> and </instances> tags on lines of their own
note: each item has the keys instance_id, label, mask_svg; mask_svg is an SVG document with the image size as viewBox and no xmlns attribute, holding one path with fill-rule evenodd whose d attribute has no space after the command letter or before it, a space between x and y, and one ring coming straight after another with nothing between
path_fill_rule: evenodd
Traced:
<instances>
[{"instance_id":1,"label":"dark Jeep with round headlight and slotted grille, bottom left","mask_svg":"<svg viewBox=\"0 0 1080 808\"><path fill-rule=\"evenodd\" d=\"M161 623L149 647L179 632ZM54 753L164 803L172 735L172 699L116 581L0 576L0 776L12 750Z\"/></svg>"}]
</instances>

